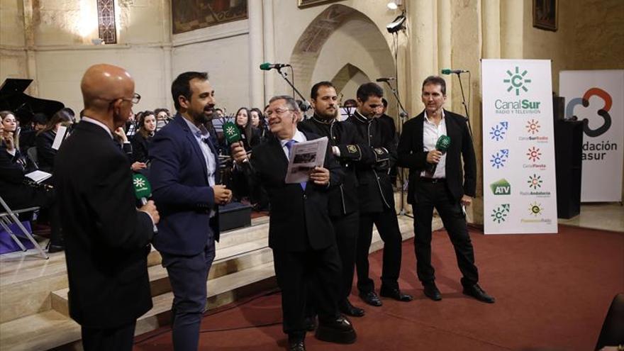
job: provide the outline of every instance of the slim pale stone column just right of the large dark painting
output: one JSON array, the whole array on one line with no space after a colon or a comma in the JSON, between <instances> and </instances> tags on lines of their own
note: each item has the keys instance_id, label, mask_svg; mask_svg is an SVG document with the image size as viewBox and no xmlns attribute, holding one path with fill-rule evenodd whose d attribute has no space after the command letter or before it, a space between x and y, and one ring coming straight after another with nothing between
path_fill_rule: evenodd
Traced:
<instances>
[{"instance_id":1,"label":"slim pale stone column just right of the large dark painting","mask_svg":"<svg viewBox=\"0 0 624 351\"><path fill-rule=\"evenodd\" d=\"M247 1L249 17L249 107L264 107L262 1Z\"/></svg>"}]
</instances>

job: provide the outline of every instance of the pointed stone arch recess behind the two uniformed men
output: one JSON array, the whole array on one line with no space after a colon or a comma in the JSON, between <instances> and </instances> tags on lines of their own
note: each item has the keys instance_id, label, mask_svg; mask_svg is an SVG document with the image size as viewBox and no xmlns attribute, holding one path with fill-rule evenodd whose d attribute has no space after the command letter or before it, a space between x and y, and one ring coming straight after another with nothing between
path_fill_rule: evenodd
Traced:
<instances>
[{"instance_id":1,"label":"pointed stone arch recess behind the two uniformed men","mask_svg":"<svg viewBox=\"0 0 624 351\"><path fill-rule=\"evenodd\" d=\"M304 94L321 80L338 79L335 83L340 84L341 79L352 74L350 79L359 76L374 81L394 75L395 67L379 27L366 14L342 4L328 6L311 21L289 62L297 74L296 85ZM337 90L340 93L342 89ZM355 91L345 96L354 97Z\"/></svg>"}]
</instances>

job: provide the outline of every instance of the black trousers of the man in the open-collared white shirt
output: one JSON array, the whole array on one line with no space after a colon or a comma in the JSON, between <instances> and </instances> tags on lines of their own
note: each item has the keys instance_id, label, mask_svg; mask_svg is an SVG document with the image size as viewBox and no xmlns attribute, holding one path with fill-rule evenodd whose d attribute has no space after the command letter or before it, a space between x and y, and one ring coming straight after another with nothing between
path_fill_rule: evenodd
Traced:
<instances>
[{"instance_id":1,"label":"black trousers of the man in the open-collared white shirt","mask_svg":"<svg viewBox=\"0 0 624 351\"><path fill-rule=\"evenodd\" d=\"M452 199L445 182L418 182L415 201L416 203L412 205L416 235L414 250L416 272L420 282L427 284L435 280L435 269L431 265L431 221L435 207L455 248L457 265L463 275L462 285L476 284L479 281L479 272L474 265L474 249L459 201Z\"/></svg>"}]
</instances>

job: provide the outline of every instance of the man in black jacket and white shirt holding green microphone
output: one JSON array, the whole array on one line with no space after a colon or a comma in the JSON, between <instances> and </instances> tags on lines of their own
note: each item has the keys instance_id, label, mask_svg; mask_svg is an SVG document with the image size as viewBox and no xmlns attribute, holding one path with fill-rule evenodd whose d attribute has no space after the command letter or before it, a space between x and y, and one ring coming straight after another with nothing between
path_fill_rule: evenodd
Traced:
<instances>
[{"instance_id":1,"label":"man in black jacket and white shirt holding green microphone","mask_svg":"<svg viewBox=\"0 0 624 351\"><path fill-rule=\"evenodd\" d=\"M422 99L425 111L403 124L397 147L399 166L410 169L408 204L414 213L418 279L425 288L425 296L433 301L442 299L431 265L431 220L435 207L455 247L464 294L494 303L494 298L477 284L479 272L465 217L464 206L472 204L477 188L477 161L466 118L442 108L446 83L441 77L425 79ZM444 154L435 150L440 135L450 138Z\"/></svg>"}]
</instances>

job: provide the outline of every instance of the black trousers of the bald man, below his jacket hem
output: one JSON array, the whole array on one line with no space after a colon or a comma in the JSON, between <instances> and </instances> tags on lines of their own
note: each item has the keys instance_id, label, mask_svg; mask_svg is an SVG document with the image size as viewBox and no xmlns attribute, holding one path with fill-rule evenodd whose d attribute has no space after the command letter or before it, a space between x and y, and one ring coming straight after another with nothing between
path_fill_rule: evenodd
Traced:
<instances>
[{"instance_id":1,"label":"black trousers of the bald man, below his jacket hem","mask_svg":"<svg viewBox=\"0 0 624 351\"><path fill-rule=\"evenodd\" d=\"M84 351L132 351L136 321L118 328L82 327Z\"/></svg>"}]
</instances>

